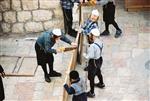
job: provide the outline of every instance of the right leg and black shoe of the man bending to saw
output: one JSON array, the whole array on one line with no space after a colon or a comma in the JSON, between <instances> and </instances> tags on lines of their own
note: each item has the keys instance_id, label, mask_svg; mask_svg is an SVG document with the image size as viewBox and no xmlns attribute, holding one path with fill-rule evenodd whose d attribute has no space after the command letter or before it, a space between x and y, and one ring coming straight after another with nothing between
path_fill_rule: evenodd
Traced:
<instances>
[{"instance_id":1,"label":"right leg and black shoe of the man bending to saw","mask_svg":"<svg viewBox=\"0 0 150 101\"><path fill-rule=\"evenodd\" d=\"M53 69L53 63L54 63L54 56L53 54L48 54L48 58L49 58L49 61L48 61L48 66L49 66L49 76L50 77L60 77L61 76L61 73L58 73L56 71L54 71Z\"/></svg>"}]
</instances>

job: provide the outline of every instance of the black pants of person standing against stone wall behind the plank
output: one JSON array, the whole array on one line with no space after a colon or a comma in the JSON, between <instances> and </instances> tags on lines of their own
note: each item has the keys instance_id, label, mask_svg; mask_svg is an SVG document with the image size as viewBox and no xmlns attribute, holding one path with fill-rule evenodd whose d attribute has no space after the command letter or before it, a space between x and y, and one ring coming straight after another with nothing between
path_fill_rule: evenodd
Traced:
<instances>
[{"instance_id":1,"label":"black pants of person standing against stone wall behind the plank","mask_svg":"<svg viewBox=\"0 0 150 101\"><path fill-rule=\"evenodd\" d=\"M73 23L73 17L72 17L72 9L64 9L63 10L63 16L64 16L64 29L65 33L71 34L72 33L72 23Z\"/></svg>"}]
</instances>

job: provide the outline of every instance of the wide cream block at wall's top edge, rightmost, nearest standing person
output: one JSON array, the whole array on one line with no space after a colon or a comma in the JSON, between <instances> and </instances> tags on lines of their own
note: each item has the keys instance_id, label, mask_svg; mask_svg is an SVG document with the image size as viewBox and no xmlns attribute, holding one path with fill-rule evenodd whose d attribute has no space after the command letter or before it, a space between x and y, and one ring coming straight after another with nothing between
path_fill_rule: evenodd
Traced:
<instances>
[{"instance_id":1,"label":"wide cream block at wall's top edge, rightmost, nearest standing person","mask_svg":"<svg viewBox=\"0 0 150 101\"><path fill-rule=\"evenodd\" d=\"M49 9L49 8L57 8L60 6L59 0L39 0L40 8Z\"/></svg>"}]
</instances>

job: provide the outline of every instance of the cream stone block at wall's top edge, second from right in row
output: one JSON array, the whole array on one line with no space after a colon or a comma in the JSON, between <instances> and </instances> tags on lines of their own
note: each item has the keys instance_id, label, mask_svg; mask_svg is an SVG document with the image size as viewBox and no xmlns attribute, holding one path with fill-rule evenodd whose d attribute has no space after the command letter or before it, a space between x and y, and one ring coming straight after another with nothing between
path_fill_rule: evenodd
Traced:
<instances>
[{"instance_id":1,"label":"cream stone block at wall's top edge, second from right in row","mask_svg":"<svg viewBox=\"0 0 150 101\"><path fill-rule=\"evenodd\" d=\"M22 0L23 10L38 9L38 0Z\"/></svg>"}]
</instances>

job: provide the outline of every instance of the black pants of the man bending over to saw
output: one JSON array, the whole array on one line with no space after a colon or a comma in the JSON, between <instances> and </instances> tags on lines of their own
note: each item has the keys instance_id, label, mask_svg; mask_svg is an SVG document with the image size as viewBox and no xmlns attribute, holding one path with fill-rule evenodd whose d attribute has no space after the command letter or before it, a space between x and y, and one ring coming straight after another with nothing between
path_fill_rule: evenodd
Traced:
<instances>
[{"instance_id":1,"label":"black pants of the man bending over to saw","mask_svg":"<svg viewBox=\"0 0 150 101\"><path fill-rule=\"evenodd\" d=\"M46 64L49 65L49 73L53 71L53 63L54 63L54 56L52 53L45 53L43 49L38 45L38 43L35 43L35 51L37 56L37 63L38 65L41 65L44 74L47 75L47 67Z\"/></svg>"}]
</instances>

